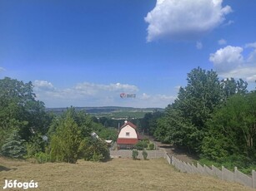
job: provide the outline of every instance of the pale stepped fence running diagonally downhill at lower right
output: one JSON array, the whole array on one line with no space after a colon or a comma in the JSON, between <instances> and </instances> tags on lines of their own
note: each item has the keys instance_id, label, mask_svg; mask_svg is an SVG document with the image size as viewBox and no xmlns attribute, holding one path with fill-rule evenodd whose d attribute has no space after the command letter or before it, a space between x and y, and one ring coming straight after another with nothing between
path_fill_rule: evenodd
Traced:
<instances>
[{"instance_id":1,"label":"pale stepped fence running diagonally downhill at lower right","mask_svg":"<svg viewBox=\"0 0 256 191\"><path fill-rule=\"evenodd\" d=\"M234 172L231 172L224 167L222 167L220 170L213 165L211 168L209 168L208 166L202 166L201 164L197 164L196 166L193 164L188 164L176 159L174 156L170 157L167 153L164 154L164 158L167 159L168 164L173 164L176 169L179 169L183 173L209 175L217 177L218 179L236 182L256 189L256 172L254 170L252 170L252 176L250 177L240 172L237 167L234 168Z\"/></svg>"}]
</instances>

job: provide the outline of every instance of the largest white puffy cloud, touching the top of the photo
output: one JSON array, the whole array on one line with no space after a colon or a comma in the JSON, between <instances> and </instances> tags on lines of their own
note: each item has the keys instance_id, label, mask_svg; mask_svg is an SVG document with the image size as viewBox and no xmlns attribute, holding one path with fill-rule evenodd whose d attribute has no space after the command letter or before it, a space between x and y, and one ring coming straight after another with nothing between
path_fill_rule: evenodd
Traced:
<instances>
[{"instance_id":1,"label":"largest white puffy cloud, touching the top of the photo","mask_svg":"<svg viewBox=\"0 0 256 191\"><path fill-rule=\"evenodd\" d=\"M222 0L157 0L156 6L145 17L148 22L147 41L159 38L189 39L199 37L218 27L231 7Z\"/></svg>"}]
</instances>

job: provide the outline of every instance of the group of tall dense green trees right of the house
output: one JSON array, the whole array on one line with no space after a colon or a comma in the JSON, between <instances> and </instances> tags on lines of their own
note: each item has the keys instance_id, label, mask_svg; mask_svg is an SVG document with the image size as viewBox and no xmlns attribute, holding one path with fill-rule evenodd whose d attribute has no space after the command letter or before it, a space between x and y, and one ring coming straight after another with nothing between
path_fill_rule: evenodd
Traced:
<instances>
[{"instance_id":1,"label":"group of tall dense green trees right of the house","mask_svg":"<svg viewBox=\"0 0 256 191\"><path fill-rule=\"evenodd\" d=\"M151 127L156 140L185 147L204 162L248 167L256 161L256 91L216 71L195 68ZM255 166L254 166L255 167Z\"/></svg>"}]
</instances>

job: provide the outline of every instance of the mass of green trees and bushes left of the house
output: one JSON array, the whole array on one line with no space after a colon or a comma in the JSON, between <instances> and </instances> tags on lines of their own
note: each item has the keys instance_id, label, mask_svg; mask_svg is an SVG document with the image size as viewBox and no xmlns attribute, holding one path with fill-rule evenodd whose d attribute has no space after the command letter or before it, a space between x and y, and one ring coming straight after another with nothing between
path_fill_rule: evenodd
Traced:
<instances>
[{"instance_id":1,"label":"mass of green trees and bushes left of the house","mask_svg":"<svg viewBox=\"0 0 256 191\"><path fill-rule=\"evenodd\" d=\"M95 139L95 132L101 139ZM78 159L106 161L108 145L117 131L105 128L85 111L68 108L63 115L45 110L36 100L32 82L5 77L0 80L0 154L11 158L35 158L38 162Z\"/></svg>"}]
</instances>

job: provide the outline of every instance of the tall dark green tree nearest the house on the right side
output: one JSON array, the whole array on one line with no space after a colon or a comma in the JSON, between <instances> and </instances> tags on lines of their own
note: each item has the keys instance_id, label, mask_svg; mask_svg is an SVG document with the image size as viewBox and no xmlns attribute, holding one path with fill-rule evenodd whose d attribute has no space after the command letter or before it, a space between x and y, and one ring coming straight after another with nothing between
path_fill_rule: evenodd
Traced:
<instances>
[{"instance_id":1,"label":"tall dark green tree nearest the house on the right side","mask_svg":"<svg viewBox=\"0 0 256 191\"><path fill-rule=\"evenodd\" d=\"M200 152L214 108L222 102L222 87L215 71L201 68L188 73L188 85L181 87L178 98L168 105L155 134L160 140Z\"/></svg>"}]
</instances>

